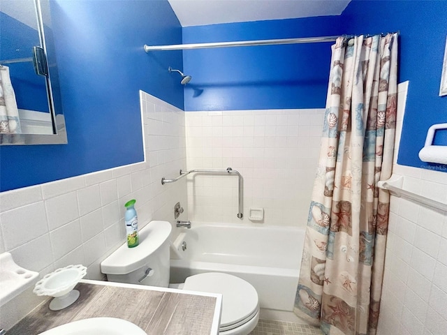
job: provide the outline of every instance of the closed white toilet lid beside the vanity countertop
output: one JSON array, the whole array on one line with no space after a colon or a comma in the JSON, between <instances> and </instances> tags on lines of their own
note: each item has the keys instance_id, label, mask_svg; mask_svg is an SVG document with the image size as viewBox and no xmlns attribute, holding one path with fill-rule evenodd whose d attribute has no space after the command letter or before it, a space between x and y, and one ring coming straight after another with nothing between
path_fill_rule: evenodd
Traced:
<instances>
[{"instance_id":1,"label":"closed white toilet lid beside the vanity countertop","mask_svg":"<svg viewBox=\"0 0 447 335\"><path fill-rule=\"evenodd\" d=\"M248 321L258 311L258 293L255 288L247 281L230 274L196 274L186 278L183 289L222 295L221 329L241 325L241 321Z\"/></svg>"}]
</instances>

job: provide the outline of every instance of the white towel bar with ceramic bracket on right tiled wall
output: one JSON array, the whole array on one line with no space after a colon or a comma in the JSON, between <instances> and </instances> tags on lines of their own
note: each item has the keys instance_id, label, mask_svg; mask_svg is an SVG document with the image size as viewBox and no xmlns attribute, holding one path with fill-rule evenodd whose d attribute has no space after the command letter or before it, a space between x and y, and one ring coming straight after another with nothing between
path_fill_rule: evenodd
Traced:
<instances>
[{"instance_id":1,"label":"white towel bar with ceramic bracket on right tiled wall","mask_svg":"<svg viewBox=\"0 0 447 335\"><path fill-rule=\"evenodd\" d=\"M390 179L379 181L379 183L377 183L377 186L379 188L382 188L383 190L390 191L391 194L399 198L406 198L409 200L413 200L414 202L423 204L427 207L432 207L441 211L447 211L446 203L423 197L422 195L418 195L417 193L413 193L411 191L406 191L402 188L403 184L404 177L398 174L393 174Z\"/></svg>"}]
</instances>

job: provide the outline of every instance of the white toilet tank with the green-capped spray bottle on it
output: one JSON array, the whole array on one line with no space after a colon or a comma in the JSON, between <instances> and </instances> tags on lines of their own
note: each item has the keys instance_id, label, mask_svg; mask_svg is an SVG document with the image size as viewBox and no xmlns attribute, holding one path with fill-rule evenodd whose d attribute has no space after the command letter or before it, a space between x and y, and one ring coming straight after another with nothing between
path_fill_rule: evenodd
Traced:
<instances>
[{"instance_id":1,"label":"white toilet tank with the green-capped spray bottle on it","mask_svg":"<svg viewBox=\"0 0 447 335\"><path fill-rule=\"evenodd\" d=\"M140 244L129 248L124 243L101 262L108 281L167 288L169 285L168 221L151 221L138 231Z\"/></svg>"}]
</instances>

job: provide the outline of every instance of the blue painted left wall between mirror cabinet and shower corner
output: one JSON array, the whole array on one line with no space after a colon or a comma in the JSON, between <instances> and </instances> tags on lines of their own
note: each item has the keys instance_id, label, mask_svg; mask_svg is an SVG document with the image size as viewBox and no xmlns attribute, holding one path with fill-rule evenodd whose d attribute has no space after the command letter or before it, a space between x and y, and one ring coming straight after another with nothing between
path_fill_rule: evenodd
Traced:
<instances>
[{"instance_id":1,"label":"blue painted left wall between mirror cabinet and shower corner","mask_svg":"<svg viewBox=\"0 0 447 335\"><path fill-rule=\"evenodd\" d=\"M68 144L0 147L1 191L143 160L138 90L183 108L168 66L182 52L146 54L145 44L182 43L168 1L54 0Z\"/></svg>"}]
</instances>

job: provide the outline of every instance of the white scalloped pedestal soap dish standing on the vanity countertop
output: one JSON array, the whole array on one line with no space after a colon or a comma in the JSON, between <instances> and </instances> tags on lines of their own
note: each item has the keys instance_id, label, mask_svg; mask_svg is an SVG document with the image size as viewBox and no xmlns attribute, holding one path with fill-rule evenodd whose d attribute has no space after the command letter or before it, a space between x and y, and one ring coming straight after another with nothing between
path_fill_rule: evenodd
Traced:
<instances>
[{"instance_id":1,"label":"white scalloped pedestal soap dish standing on the vanity countertop","mask_svg":"<svg viewBox=\"0 0 447 335\"><path fill-rule=\"evenodd\" d=\"M86 274L87 267L83 265L61 267L61 269L47 274L38 281L33 292L39 296L47 295L54 297L50 302L50 309L59 311L78 300L80 293L78 290L73 290L73 288Z\"/></svg>"}]
</instances>

